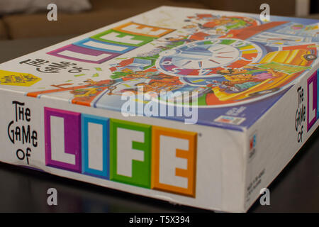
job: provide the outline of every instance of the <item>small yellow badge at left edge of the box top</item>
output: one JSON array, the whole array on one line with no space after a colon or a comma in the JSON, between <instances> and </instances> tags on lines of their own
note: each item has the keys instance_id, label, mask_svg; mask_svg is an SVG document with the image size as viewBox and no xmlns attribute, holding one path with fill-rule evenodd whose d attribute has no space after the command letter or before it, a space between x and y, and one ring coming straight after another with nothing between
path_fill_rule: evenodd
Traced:
<instances>
[{"instance_id":1,"label":"small yellow badge at left edge of the box top","mask_svg":"<svg viewBox=\"0 0 319 227\"><path fill-rule=\"evenodd\" d=\"M38 81L40 78L33 74L0 70L1 85L30 87Z\"/></svg>"}]
</instances>

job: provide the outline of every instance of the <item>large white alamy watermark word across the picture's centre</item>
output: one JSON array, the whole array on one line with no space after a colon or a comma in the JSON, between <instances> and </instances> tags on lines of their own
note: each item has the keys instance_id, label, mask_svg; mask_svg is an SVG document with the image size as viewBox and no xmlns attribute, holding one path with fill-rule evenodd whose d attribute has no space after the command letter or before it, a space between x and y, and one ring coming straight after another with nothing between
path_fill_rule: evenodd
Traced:
<instances>
[{"instance_id":1,"label":"large white alamy watermark word across the picture's centre","mask_svg":"<svg viewBox=\"0 0 319 227\"><path fill-rule=\"evenodd\" d=\"M123 116L182 117L184 123L198 121L198 92L144 92L138 87L121 95Z\"/></svg>"}]
</instances>

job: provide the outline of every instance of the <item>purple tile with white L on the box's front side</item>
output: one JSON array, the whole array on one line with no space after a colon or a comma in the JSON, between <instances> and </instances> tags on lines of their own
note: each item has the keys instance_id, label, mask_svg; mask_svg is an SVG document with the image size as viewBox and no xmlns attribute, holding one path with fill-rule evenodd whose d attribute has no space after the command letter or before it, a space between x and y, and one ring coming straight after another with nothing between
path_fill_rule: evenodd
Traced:
<instances>
[{"instance_id":1,"label":"purple tile with white L on the box's front side","mask_svg":"<svg viewBox=\"0 0 319 227\"><path fill-rule=\"evenodd\" d=\"M81 114L45 107L45 165L81 172Z\"/></svg>"}]
</instances>

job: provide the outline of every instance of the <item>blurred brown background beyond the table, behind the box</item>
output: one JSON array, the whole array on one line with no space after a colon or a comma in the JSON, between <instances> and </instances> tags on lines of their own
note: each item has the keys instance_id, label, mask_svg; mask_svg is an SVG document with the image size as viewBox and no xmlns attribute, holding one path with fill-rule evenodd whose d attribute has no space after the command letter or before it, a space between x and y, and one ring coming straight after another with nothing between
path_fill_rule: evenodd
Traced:
<instances>
[{"instance_id":1,"label":"blurred brown background beyond the table, behind the box","mask_svg":"<svg viewBox=\"0 0 319 227\"><path fill-rule=\"evenodd\" d=\"M319 18L319 0L0 0L0 40L79 35L162 5L260 13L263 3L271 15Z\"/></svg>"}]
</instances>

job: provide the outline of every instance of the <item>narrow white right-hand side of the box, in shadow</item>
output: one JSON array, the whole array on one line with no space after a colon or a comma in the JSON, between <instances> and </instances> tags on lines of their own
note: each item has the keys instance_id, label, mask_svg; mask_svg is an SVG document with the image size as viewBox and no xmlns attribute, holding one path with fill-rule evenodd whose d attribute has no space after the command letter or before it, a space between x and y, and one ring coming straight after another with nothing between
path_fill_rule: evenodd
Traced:
<instances>
[{"instance_id":1,"label":"narrow white right-hand side of the box, in shadow","mask_svg":"<svg viewBox=\"0 0 319 227\"><path fill-rule=\"evenodd\" d=\"M246 209L264 194L260 190L279 175L318 127L318 70L315 68L318 65L249 128Z\"/></svg>"}]
</instances>

